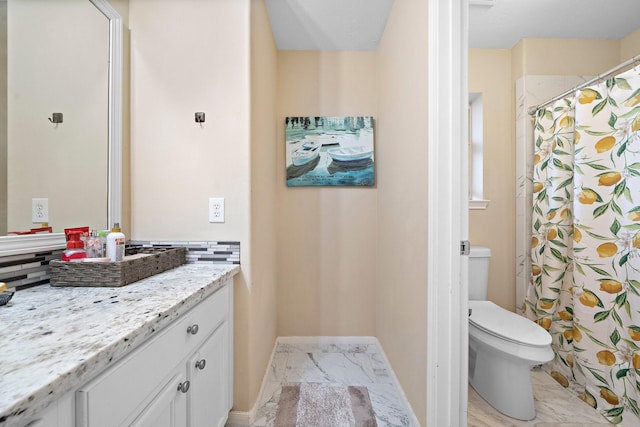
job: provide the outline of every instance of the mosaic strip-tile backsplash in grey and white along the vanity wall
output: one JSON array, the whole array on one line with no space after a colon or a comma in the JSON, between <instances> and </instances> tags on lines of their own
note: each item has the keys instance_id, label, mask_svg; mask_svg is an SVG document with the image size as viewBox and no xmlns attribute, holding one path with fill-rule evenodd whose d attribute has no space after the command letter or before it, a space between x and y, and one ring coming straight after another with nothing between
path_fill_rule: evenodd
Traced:
<instances>
[{"instance_id":1,"label":"mosaic strip-tile backsplash in grey and white along the vanity wall","mask_svg":"<svg viewBox=\"0 0 640 427\"><path fill-rule=\"evenodd\" d=\"M240 242L129 241L127 246L185 247L187 264L240 264ZM49 261L59 260L64 249L0 257L0 282L16 290L48 284Z\"/></svg>"}]
</instances>

